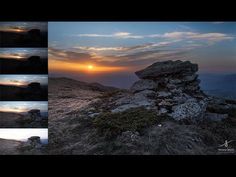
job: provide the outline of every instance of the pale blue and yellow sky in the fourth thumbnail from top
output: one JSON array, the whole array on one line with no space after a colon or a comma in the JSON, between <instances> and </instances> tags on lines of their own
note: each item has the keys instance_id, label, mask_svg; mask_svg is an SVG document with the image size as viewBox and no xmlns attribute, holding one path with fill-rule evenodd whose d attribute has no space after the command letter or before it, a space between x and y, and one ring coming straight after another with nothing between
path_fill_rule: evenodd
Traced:
<instances>
[{"instance_id":1,"label":"pale blue and yellow sky in the fourth thumbnail from top","mask_svg":"<svg viewBox=\"0 0 236 177\"><path fill-rule=\"evenodd\" d=\"M48 110L47 101L1 101L0 112L23 113L32 109L39 109L41 112Z\"/></svg>"}]
</instances>

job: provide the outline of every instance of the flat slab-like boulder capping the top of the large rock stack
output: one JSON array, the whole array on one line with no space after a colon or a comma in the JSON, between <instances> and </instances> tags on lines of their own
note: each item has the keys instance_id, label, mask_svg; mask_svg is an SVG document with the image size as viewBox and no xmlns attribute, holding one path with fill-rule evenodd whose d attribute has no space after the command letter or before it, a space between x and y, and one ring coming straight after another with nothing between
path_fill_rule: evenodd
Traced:
<instances>
[{"instance_id":1,"label":"flat slab-like boulder capping the top of the large rock stack","mask_svg":"<svg viewBox=\"0 0 236 177\"><path fill-rule=\"evenodd\" d=\"M198 71L198 65L189 61L156 62L147 68L135 72L140 79L155 79L168 75L191 76Z\"/></svg>"}]
</instances>

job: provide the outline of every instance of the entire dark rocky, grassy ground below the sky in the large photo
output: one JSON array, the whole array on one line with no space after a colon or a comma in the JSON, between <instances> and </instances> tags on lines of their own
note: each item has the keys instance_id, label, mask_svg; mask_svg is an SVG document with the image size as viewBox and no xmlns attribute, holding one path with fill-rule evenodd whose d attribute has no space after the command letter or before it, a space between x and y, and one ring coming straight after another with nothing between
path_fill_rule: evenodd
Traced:
<instances>
[{"instance_id":1,"label":"entire dark rocky, grassy ground below the sky in the large photo","mask_svg":"<svg viewBox=\"0 0 236 177\"><path fill-rule=\"evenodd\" d=\"M50 79L49 154L225 153L219 146L236 139L236 101L206 95L197 71L189 61L156 62L130 89Z\"/></svg>"}]
</instances>

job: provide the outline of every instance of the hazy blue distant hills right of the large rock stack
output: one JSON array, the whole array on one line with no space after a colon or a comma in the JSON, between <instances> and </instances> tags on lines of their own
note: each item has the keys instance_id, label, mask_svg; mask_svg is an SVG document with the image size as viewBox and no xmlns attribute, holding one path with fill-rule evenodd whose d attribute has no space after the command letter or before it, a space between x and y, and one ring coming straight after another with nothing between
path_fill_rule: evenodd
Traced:
<instances>
[{"instance_id":1,"label":"hazy blue distant hills right of the large rock stack","mask_svg":"<svg viewBox=\"0 0 236 177\"><path fill-rule=\"evenodd\" d=\"M236 99L236 74L200 74L199 78L206 94Z\"/></svg>"}]
</instances>

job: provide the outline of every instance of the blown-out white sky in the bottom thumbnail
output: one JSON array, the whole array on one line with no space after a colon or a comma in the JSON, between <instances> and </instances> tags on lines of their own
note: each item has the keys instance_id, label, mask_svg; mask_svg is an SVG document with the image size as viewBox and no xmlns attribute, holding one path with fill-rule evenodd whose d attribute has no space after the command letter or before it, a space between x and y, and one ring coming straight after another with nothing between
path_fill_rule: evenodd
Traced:
<instances>
[{"instance_id":1,"label":"blown-out white sky in the bottom thumbnail","mask_svg":"<svg viewBox=\"0 0 236 177\"><path fill-rule=\"evenodd\" d=\"M48 129L42 128L1 128L0 138L25 141L31 136L48 139Z\"/></svg>"}]
</instances>

